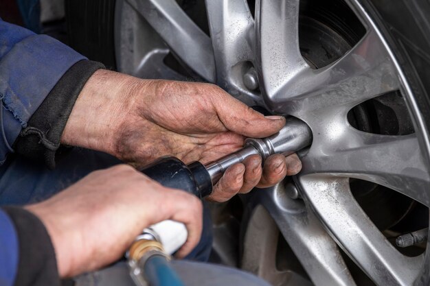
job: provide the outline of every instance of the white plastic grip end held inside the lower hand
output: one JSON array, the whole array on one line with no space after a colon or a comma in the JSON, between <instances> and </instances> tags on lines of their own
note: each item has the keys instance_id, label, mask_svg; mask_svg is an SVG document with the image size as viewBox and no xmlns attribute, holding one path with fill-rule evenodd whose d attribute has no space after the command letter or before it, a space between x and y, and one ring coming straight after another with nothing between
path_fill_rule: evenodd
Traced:
<instances>
[{"instance_id":1,"label":"white plastic grip end held inside the lower hand","mask_svg":"<svg viewBox=\"0 0 430 286\"><path fill-rule=\"evenodd\" d=\"M168 219L152 224L149 229L158 236L157 238L167 254L173 254L187 241L188 230L181 222Z\"/></svg>"}]
</instances>

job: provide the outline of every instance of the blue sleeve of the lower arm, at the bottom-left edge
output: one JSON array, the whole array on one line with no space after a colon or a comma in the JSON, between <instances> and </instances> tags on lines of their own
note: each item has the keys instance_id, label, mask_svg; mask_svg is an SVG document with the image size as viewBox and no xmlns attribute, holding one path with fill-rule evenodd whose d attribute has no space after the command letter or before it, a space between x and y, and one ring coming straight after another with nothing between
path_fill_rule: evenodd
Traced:
<instances>
[{"instance_id":1,"label":"blue sleeve of the lower arm, at the bottom-left edge","mask_svg":"<svg viewBox=\"0 0 430 286\"><path fill-rule=\"evenodd\" d=\"M0 285L12 286L18 271L19 244L12 220L0 209Z\"/></svg>"}]
</instances>

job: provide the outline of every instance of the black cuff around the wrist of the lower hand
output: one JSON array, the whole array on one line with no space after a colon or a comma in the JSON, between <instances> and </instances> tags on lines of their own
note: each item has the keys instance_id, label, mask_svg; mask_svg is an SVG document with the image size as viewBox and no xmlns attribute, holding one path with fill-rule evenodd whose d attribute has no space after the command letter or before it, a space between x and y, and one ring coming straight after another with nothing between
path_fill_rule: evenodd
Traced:
<instances>
[{"instance_id":1,"label":"black cuff around the wrist of the lower hand","mask_svg":"<svg viewBox=\"0 0 430 286\"><path fill-rule=\"evenodd\" d=\"M14 286L59 286L51 239L36 215L15 206L2 208L14 222L19 240L19 263Z\"/></svg>"}]
</instances>

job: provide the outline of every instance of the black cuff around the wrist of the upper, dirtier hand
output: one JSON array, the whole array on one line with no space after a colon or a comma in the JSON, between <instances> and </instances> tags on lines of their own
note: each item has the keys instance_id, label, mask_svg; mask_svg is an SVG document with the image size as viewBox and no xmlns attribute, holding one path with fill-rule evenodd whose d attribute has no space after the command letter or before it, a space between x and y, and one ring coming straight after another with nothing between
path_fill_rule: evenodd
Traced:
<instances>
[{"instance_id":1,"label":"black cuff around the wrist of the upper, dirtier hand","mask_svg":"<svg viewBox=\"0 0 430 286\"><path fill-rule=\"evenodd\" d=\"M14 150L27 158L45 161L54 169L60 139L80 91L91 75L104 69L100 62L76 62L52 88L14 143ZM58 156L57 156L58 157Z\"/></svg>"}]
</instances>

